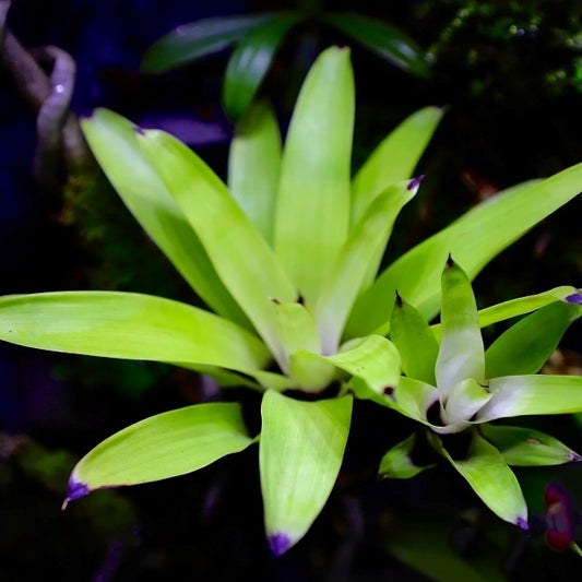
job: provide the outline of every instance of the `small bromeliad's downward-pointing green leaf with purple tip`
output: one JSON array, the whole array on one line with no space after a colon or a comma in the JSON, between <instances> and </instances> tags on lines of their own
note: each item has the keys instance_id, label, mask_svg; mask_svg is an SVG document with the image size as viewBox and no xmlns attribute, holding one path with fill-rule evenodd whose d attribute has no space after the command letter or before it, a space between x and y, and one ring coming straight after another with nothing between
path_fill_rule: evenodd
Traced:
<instances>
[{"instance_id":1,"label":"small bromeliad's downward-pointing green leaf with purple tip","mask_svg":"<svg viewBox=\"0 0 582 582\"><path fill-rule=\"evenodd\" d=\"M473 433L466 459L453 459L439 437L429 433L435 449L450 461L484 503L502 520L527 530L527 507L520 484L501 453L477 431Z\"/></svg>"}]
</instances>

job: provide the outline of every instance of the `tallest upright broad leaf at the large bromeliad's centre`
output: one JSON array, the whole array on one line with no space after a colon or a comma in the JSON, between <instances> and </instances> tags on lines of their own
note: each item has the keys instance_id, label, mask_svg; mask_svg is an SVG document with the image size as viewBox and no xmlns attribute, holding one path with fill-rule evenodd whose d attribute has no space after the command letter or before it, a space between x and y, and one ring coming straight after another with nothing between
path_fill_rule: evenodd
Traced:
<instances>
[{"instance_id":1,"label":"tallest upright broad leaf at the large bromeliad's centre","mask_svg":"<svg viewBox=\"0 0 582 582\"><path fill-rule=\"evenodd\" d=\"M299 293L316 305L349 228L354 76L349 50L311 67L287 133L274 248Z\"/></svg>"}]
</instances>

